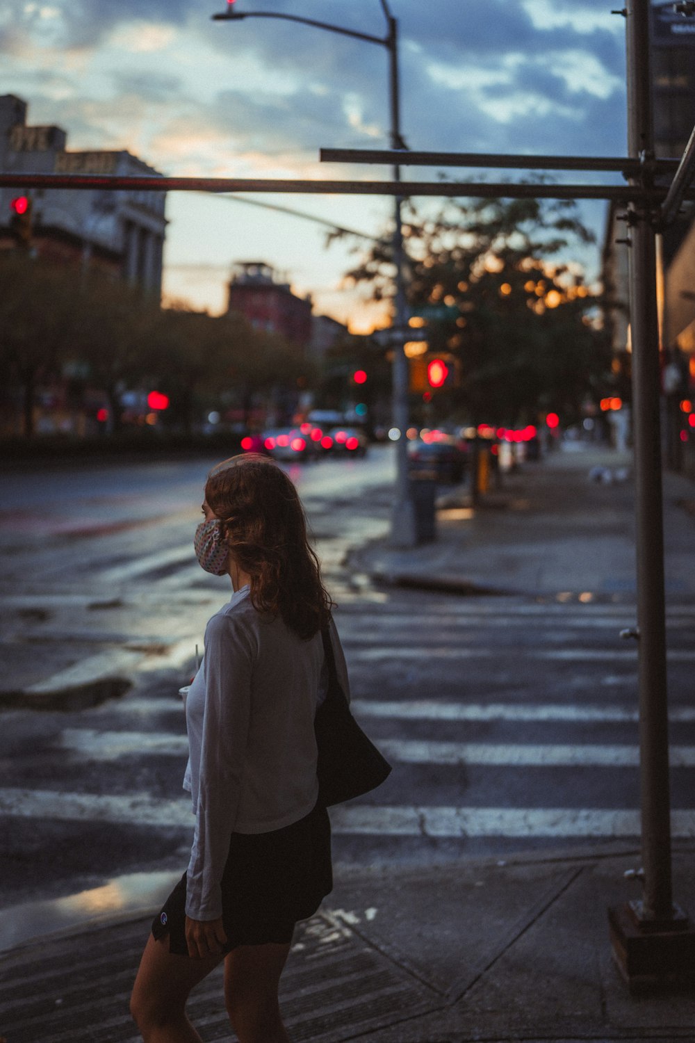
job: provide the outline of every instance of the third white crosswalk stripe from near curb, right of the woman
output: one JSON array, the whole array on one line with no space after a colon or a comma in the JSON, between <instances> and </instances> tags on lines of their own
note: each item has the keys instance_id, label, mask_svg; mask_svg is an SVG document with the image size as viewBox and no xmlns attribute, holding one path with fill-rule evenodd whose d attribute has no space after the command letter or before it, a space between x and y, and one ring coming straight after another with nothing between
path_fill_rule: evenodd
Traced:
<instances>
[{"instance_id":1,"label":"third white crosswalk stripe from near curb, right of the woman","mask_svg":"<svg viewBox=\"0 0 695 1043\"><path fill-rule=\"evenodd\" d=\"M127 707L127 703L123 704ZM412 721L569 721L569 722L637 722L639 712L629 706L581 706L557 703L439 703L429 700L379 701L353 699L350 703L357 717L401 718ZM673 723L695 722L695 707L672 706L669 720Z\"/></svg>"}]
</instances>

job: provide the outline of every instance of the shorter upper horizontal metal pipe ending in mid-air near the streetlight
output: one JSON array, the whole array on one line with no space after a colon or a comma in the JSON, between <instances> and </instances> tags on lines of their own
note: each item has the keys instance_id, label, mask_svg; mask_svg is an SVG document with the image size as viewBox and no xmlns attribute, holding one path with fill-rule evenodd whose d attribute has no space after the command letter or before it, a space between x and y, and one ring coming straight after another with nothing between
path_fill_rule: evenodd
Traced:
<instances>
[{"instance_id":1,"label":"shorter upper horizontal metal pipe ending in mid-air near the streetlight","mask_svg":"<svg viewBox=\"0 0 695 1043\"><path fill-rule=\"evenodd\" d=\"M639 174L639 160L620 155L511 155L496 152L416 152L388 148L322 148L322 163L400 163L411 167L492 167L516 170L607 170ZM670 173L677 160L654 160L654 173Z\"/></svg>"}]
</instances>

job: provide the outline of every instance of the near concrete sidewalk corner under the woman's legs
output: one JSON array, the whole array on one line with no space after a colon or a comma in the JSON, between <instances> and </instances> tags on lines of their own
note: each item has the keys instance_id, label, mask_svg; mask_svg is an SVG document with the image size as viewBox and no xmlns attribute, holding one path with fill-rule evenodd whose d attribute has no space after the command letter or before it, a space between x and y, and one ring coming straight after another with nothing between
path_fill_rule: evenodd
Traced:
<instances>
[{"instance_id":1,"label":"near concrete sidewalk corner under the woman's legs","mask_svg":"<svg viewBox=\"0 0 695 1043\"><path fill-rule=\"evenodd\" d=\"M341 872L297 928L280 998L294 1043L692 1040L695 994L630 997L606 906L637 897L636 852ZM674 859L692 896L692 855ZM630 894L634 888L636 894ZM0 961L7 1043L135 1043L128 996L153 909L48 936ZM203 1039L231 1039L221 971L193 994Z\"/></svg>"}]
</instances>

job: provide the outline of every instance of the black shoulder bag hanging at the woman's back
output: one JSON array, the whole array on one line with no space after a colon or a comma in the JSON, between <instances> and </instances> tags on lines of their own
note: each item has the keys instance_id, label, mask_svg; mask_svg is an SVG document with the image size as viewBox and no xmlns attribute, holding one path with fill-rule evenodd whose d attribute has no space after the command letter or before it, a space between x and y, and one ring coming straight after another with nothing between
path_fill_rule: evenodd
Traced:
<instances>
[{"instance_id":1,"label":"black shoulder bag hanging at the woman's back","mask_svg":"<svg viewBox=\"0 0 695 1043\"><path fill-rule=\"evenodd\" d=\"M336 672L333 647L328 630L321 631L328 664L328 693L314 719L319 750L319 802L324 807L362 797L380 785L391 772L350 712Z\"/></svg>"}]
</instances>

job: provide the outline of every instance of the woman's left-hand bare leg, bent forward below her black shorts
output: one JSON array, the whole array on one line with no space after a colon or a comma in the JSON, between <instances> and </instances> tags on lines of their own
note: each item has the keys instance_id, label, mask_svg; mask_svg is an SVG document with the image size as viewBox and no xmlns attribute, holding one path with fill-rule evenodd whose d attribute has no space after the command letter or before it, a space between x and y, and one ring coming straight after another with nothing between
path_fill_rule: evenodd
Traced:
<instances>
[{"instance_id":1,"label":"woman's left-hand bare leg, bent forward below her black shorts","mask_svg":"<svg viewBox=\"0 0 695 1043\"><path fill-rule=\"evenodd\" d=\"M202 1043L185 1016L185 1001L222 960L177 956L169 952L168 937L155 942L150 935L130 997L130 1013L145 1043Z\"/></svg>"}]
</instances>

